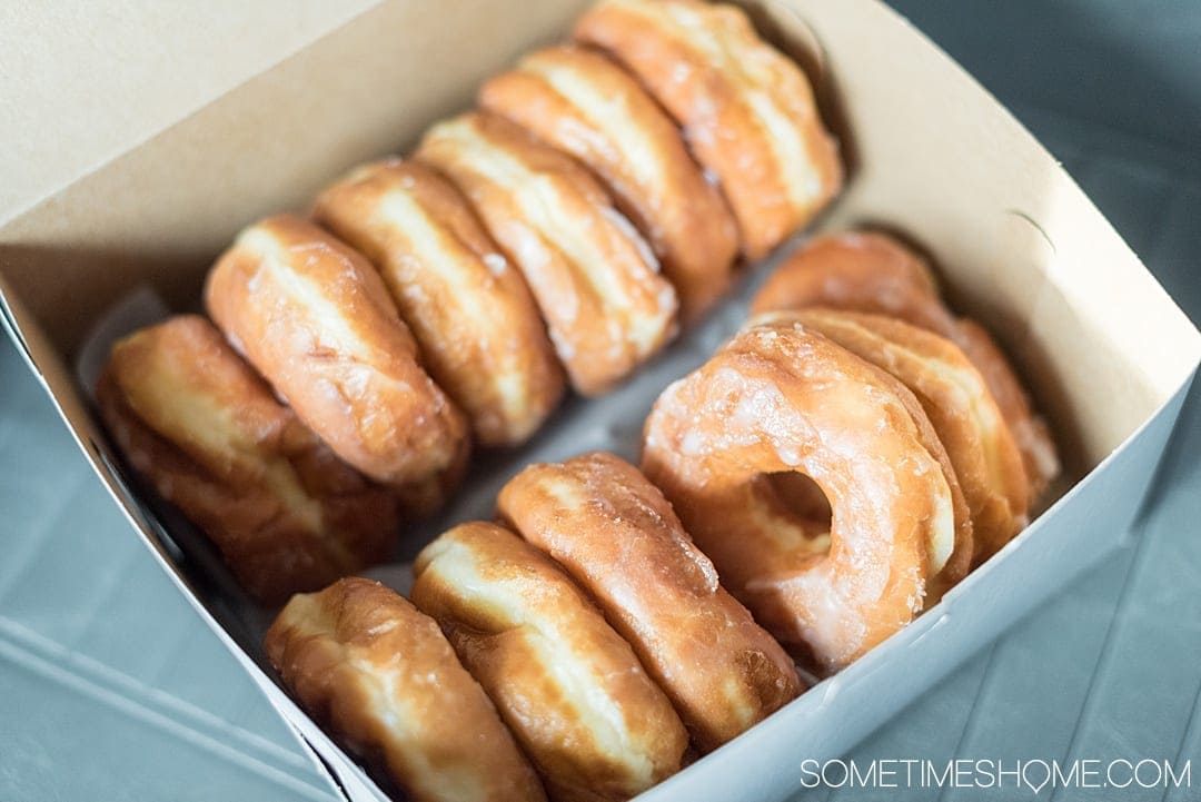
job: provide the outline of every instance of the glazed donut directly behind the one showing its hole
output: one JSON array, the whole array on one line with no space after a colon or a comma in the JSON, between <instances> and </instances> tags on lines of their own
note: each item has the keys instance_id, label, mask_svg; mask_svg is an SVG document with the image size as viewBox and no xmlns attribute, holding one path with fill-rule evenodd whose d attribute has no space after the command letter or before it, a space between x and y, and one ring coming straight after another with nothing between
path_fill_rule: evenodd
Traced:
<instances>
[{"instance_id":1,"label":"glazed donut directly behind the one showing its hole","mask_svg":"<svg viewBox=\"0 0 1201 802\"><path fill-rule=\"evenodd\" d=\"M1029 483L1022 455L984 377L955 343L880 315L821 307L777 315L800 321L913 390L946 448L972 510L973 538L964 544L963 573L969 562L987 559L1026 527ZM951 556L952 563L960 551Z\"/></svg>"}]
</instances>

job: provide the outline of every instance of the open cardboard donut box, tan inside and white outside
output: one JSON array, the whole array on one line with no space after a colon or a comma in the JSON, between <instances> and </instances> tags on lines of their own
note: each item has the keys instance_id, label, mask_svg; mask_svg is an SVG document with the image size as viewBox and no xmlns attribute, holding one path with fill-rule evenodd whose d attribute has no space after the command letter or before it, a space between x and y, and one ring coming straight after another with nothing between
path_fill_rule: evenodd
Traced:
<instances>
[{"instance_id":1,"label":"open cardboard donut box, tan inside and white outside","mask_svg":"<svg viewBox=\"0 0 1201 802\"><path fill-rule=\"evenodd\" d=\"M586 2L363 5L349 19L333 5L309 8L303 22L322 35L292 53L280 42L223 95L148 139L131 138L120 155L6 220L0 311L84 459L179 592L346 796L380 800L380 788L277 686L261 648L269 612L121 469L79 379L97 349L155 315L139 299L197 309L207 268L240 227L303 210L352 164L405 152L429 124L467 108L483 78L561 38ZM937 606L646 800L787 796L800 785L802 759L843 754L1131 537L1201 359L1197 330L1066 173L902 18L873 0L746 5L806 68L841 140L849 180L813 231L878 226L924 249L952 306L986 324L1018 365L1052 424L1065 477L1053 503ZM273 7L289 13L271 0L261 10ZM406 532L399 559L450 523L490 516L497 489L531 461L591 448L637 457L655 397L736 329L777 259L746 269L734 297L616 393L573 399L531 444L479 455L449 509ZM375 575L405 582L402 562Z\"/></svg>"}]
</instances>

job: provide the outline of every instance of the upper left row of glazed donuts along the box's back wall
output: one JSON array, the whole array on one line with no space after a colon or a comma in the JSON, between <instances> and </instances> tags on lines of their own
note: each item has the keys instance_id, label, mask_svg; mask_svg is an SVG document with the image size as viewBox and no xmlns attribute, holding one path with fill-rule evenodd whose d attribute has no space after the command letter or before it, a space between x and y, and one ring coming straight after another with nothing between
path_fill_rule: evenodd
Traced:
<instances>
[{"instance_id":1,"label":"upper left row of glazed donuts along the box's back wall","mask_svg":"<svg viewBox=\"0 0 1201 802\"><path fill-rule=\"evenodd\" d=\"M613 388L838 191L805 76L742 11L602 0L573 40L246 228L205 285L232 349L195 317L115 346L114 441L261 599L378 561L472 441Z\"/></svg>"}]
</instances>

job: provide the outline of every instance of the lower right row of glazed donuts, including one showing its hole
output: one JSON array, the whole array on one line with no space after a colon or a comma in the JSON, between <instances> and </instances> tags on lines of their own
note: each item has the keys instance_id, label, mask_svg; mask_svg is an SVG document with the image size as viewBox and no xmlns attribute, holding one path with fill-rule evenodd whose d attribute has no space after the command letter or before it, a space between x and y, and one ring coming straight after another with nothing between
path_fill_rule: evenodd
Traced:
<instances>
[{"instance_id":1,"label":"lower right row of glazed donuts, including one showing its hole","mask_svg":"<svg viewBox=\"0 0 1201 802\"><path fill-rule=\"evenodd\" d=\"M656 402L641 472L609 454L526 468L498 523L418 556L416 609L358 579L293 599L267 650L301 704L416 798L488 798L490 779L527 792L498 736L498 752L430 770L449 728L501 724L551 798L626 798L803 690L784 647L820 674L846 666L1026 525L1058 472L1046 424L914 252L819 237L753 310ZM921 319L964 325L976 347ZM371 602L357 611L352 594ZM442 668L413 662L418 636ZM486 726L438 671L479 682Z\"/></svg>"}]
</instances>

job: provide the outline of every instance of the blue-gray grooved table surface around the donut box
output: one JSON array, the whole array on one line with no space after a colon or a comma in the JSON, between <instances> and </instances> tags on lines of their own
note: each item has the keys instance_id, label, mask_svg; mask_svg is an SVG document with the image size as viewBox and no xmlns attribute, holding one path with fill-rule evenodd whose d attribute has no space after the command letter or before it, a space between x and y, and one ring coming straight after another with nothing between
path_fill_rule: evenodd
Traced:
<instances>
[{"instance_id":1,"label":"blue-gray grooved table surface around the donut box","mask_svg":"<svg viewBox=\"0 0 1201 802\"><path fill-rule=\"evenodd\" d=\"M895 5L1015 110L1201 321L1201 2ZM1194 759L1191 790L1039 796L1201 798L1199 454L1195 389L1128 547L850 756ZM938 794L797 798L885 796ZM0 800L78 798L335 797L137 543L4 342Z\"/></svg>"}]
</instances>

